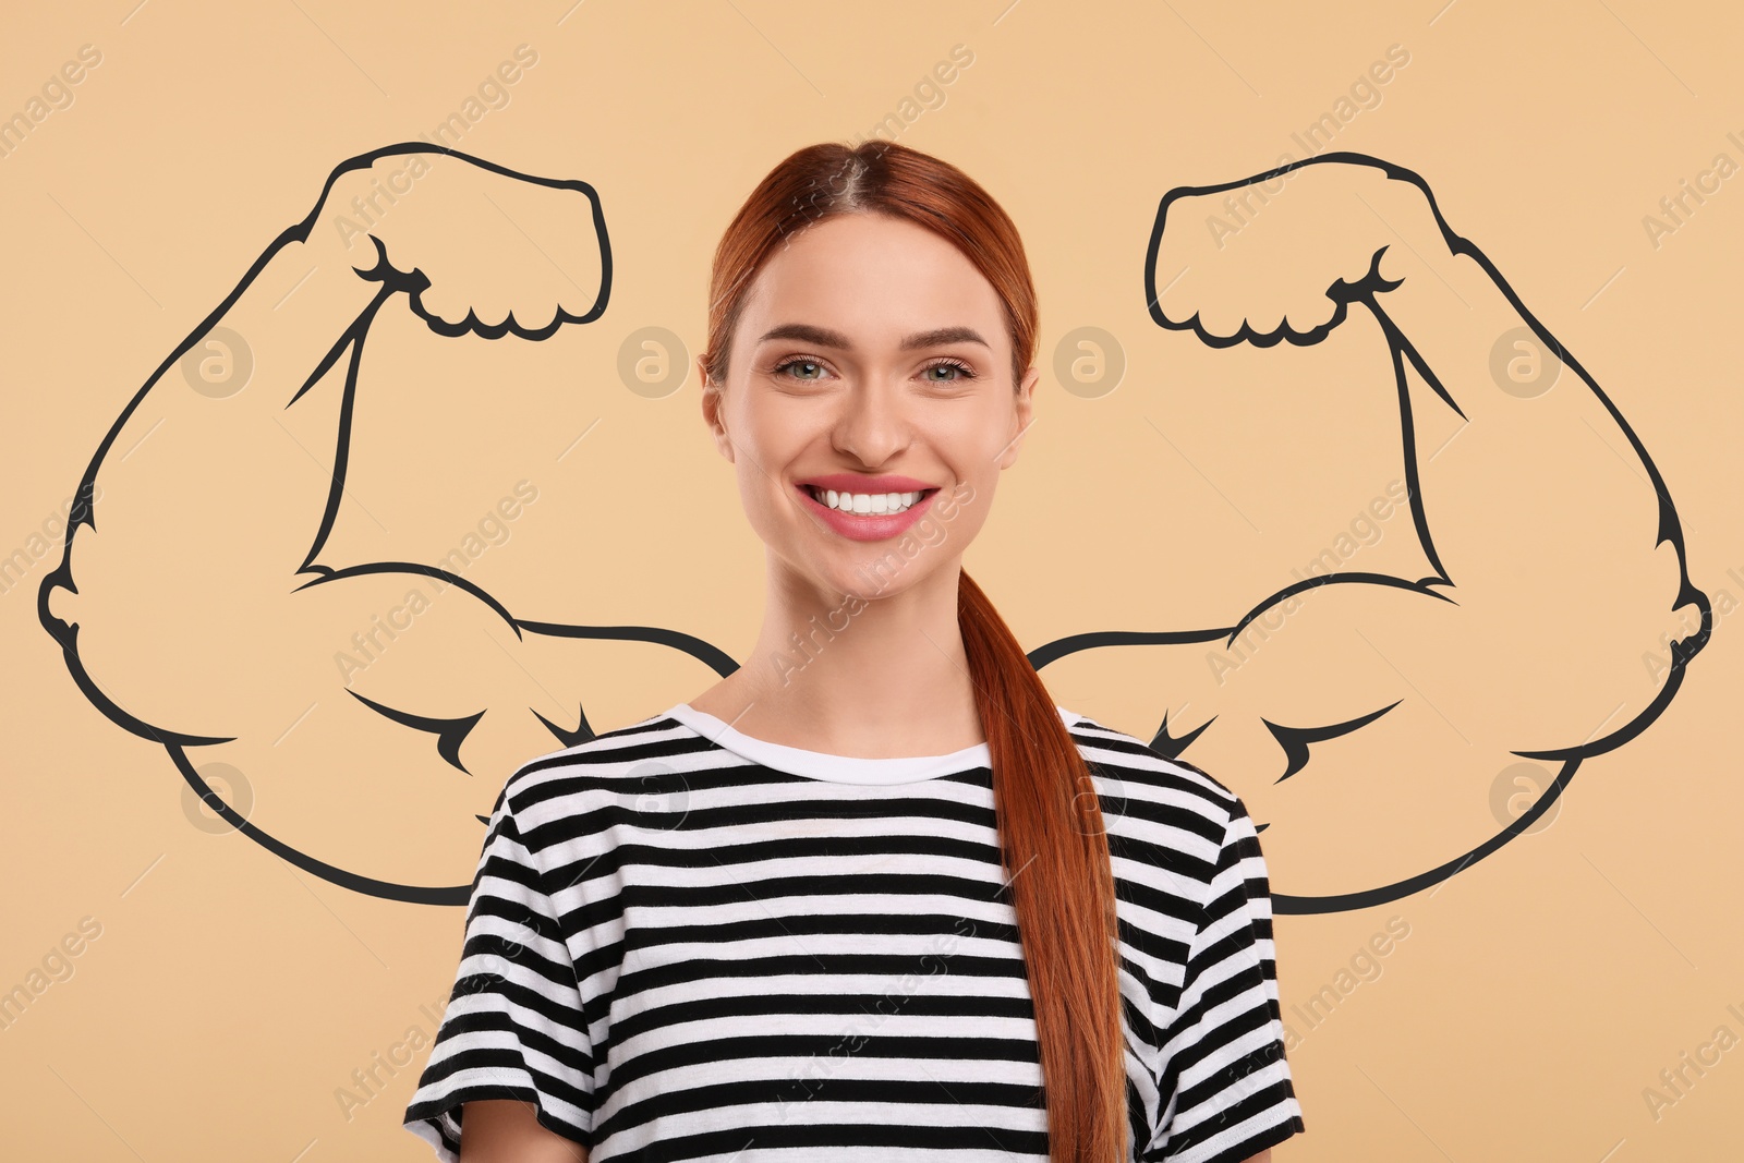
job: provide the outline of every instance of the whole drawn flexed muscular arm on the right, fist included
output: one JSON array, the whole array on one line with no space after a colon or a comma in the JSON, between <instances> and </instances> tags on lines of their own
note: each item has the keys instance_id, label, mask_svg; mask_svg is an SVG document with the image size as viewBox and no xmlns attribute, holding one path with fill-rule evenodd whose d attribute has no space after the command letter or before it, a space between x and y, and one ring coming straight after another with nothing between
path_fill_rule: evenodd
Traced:
<instances>
[{"instance_id":1,"label":"whole drawn flexed muscular arm on the right, fist included","mask_svg":"<svg viewBox=\"0 0 1744 1163\"><path fill-rule=\"evenodd\" d=\"M1233 237L1207 228L1231 214ZM1287 340L1261 394L1303 391L1289 352L1341 326L1374 331L1392 363L1390 382L1346 375L1318 403L1397 413L1386 473L1404 478L1421 572L1364 554L1235 589L1209 629L1107 628L1031 656L1142 659L1167 708L1155 746L1243 797L1280 912L1366 907L1470 867L1671 701L1711 614L1666 483L1418 174L1327 153L1170 190L1144 293L1156 324L1210 347ZM1250 471L1266 479L1263 453Z\"/></svg>"}]
</instances>

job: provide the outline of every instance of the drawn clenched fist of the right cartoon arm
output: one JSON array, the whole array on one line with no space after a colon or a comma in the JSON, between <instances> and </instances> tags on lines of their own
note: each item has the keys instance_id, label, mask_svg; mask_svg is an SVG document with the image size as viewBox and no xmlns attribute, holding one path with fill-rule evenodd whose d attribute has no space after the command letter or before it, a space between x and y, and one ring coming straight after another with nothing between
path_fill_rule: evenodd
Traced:
<instances>
[{"instance_id":1,"label":"drawn clenched fist of the right cartoon arm","mask_svg":"<svg viewBox=\"0 0 1744 1163\"><path fill-rule=\"evenodd\" d=\"M1151 317L1212 347L1315 343L1348 303L1451 256L1407 169L1327 153L1216 187L1170 190L1146 256Z\"/></svg>"}]
</instances>

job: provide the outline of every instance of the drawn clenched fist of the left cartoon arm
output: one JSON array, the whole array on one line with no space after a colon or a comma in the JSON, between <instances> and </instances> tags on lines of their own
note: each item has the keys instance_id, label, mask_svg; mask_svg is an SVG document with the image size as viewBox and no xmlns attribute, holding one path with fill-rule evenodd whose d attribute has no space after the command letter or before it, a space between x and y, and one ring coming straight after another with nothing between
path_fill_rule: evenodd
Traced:
<instances>
[{"instance_id":1,"label":"drawn clenched fist of the left cartoon arm","mask_svg":"<svg viewBox=\"0 0 1744 1163\"><path fill-rule=\"evenodd\" d=\"M544 338L605 310L610 246L584 181L532 178L406 143L330 181L316 241L406 291L441 335Z\"/></svg>"}]
</instances>

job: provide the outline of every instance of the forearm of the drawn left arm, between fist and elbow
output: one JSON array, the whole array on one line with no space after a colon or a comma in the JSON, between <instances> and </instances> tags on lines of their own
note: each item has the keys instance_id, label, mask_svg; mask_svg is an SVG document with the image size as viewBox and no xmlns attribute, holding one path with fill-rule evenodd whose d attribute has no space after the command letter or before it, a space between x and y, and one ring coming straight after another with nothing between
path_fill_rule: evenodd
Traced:
<instances>
[{"instance_id":1,"label":"forearm of the drawn left arm, between fist and elbow","mask_svg":"<svg viewBox=\"0 0 1744 1163\"><path fill-rule=\"evenodd\" d=\"M333 176L316 213L279 235L134 394L85 471L80 492L98 481L101 513L68 530L44 586L45 624L87 694L150 738L237 734L251 696L227 677L234 654L220 647L258 631L310 554L335 446L309 448L288 422L338 431L340 394L303 392L392 293L314 227L366 176ZM375 253L368 241L363 249ZM310 411L321 413L312 425Z\"/></svg>"}]
</instances>

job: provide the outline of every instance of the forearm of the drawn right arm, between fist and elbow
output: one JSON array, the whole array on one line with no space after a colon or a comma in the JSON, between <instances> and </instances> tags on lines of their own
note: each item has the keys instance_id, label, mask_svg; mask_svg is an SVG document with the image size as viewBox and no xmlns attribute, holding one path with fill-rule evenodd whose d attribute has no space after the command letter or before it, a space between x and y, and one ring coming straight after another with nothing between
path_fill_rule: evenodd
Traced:
<instances>
[{"instance_id":1,"label":"forearm of the drawn right arm, between fist and elbow","mask_svg":"<svg viewBox=\"0 0 1744 1163\"><path fill-rule=\"evenodd\" d=\"M1425 436L1413 408L1428 392L1400 401L1416 429L1407 467L1425 549L1461 605L1535 619L1535 636L1559 650L1622 626L1641 649L1666 645L1662 631L1695 635L1706 600L1685 572L1678 514L1617 406L1463 239L1437 253L1435 270L1399 265L1414 270L1360 302L1400 375L1460 413L1451 436ZM1578 619L1557 619L1559 609ZM1625 661L1634 677L1639 650Z\"/></svg>"}]
</instances>

